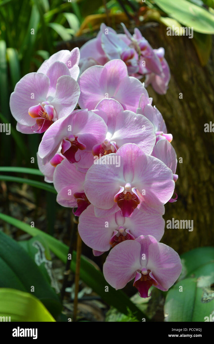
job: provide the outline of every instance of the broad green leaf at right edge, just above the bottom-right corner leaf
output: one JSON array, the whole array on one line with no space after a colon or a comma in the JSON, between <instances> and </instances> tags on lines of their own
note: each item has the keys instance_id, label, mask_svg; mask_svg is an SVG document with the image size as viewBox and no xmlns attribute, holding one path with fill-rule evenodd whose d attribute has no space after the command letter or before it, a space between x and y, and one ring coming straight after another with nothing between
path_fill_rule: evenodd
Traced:
<instances>
[{"instance_id":1,"label":"broad green leaf at right edge, just above the bottom-right corner leaf","mask_svg":"<svg viewBox=\"0 0 214 344\"><path fill-rule=\"evenodd\" d=\"M214 262L214 247L198 247L183 253L181 256L182 272L180 279L190 277L195 270Z\"/></svg>"}]
</instances>

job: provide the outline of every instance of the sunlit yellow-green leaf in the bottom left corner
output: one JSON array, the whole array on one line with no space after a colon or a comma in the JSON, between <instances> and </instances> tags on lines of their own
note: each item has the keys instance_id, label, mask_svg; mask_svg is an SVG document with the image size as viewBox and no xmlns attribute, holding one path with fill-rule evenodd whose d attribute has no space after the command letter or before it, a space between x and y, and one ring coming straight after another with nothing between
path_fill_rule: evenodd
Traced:
<instances>
[{"instance_id":1,"label":"sunlit yellow-green leaf in the bottom left corner","mask_svg":"<svg viewBox=\"0 0 214 344\"><path fill-rule=\"evenodd\" d=\"M17 322L52 322L53 316L33 295L8 288L0 288L0 316ZM9 318L6 318L9 321Z\"/></svg>"}]
</instances>

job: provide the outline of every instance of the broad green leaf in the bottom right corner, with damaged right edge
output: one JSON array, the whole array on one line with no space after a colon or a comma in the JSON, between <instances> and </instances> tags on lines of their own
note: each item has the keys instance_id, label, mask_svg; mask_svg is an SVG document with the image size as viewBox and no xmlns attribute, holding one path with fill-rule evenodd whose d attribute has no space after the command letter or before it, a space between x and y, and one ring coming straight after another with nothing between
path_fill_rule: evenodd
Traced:
<instances>
[{"instance_id":1,"label":"broad green leaf in the bottom right corner, with damaged right edge","mask_svg":"<svg viewBox=\"0 0 214 344\"><path fill-rule=\"evenodd\" d=\"M186 278L168 291L164 305L165 321L204 322L206 316L210 318L214 310L214 291L210 292L209 299L209 290L199 286L199 279ZM182 291L179 291L181 287Z\"/></svg>"}]
</instances>

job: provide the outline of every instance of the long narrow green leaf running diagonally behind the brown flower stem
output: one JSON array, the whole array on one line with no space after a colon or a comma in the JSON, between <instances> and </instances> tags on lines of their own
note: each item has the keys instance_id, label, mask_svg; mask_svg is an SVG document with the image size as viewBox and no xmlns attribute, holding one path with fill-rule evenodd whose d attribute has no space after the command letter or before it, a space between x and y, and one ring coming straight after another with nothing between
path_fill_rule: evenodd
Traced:
<instances>
[{"instance_id":1,"label":"long narrow green leaf running diagonally behind the brown flower stem","mask_svg":"<svg viewBox=\"0 0 214 344\"><path fill-rule=\"evenodd\" d=\"M54 237L42 232L37 228L32 228L30 225L23 223L11 216L0 213L0 218L3 221L10 223L11 225L22 229L24 232L29 233L32 236L40 235L46 240L49 249L61 259L64 263L67 261L68 246L61 243ZM70 268L75 272L76 269L76 252L73 251ZM81 256L80 265L80 278L93 289L94 292L99 294L103 301L112 305L123 314L128 314L128 309L135 314L136 318L142 321L145 318L149 321L147 316L140 311L136 305L127 297L127 295L121 290L115 290L105 281L101 271L96 270L84 257ZM109 287L109 292L105 292L105 286Z\"/></svg>"}]
</instances>

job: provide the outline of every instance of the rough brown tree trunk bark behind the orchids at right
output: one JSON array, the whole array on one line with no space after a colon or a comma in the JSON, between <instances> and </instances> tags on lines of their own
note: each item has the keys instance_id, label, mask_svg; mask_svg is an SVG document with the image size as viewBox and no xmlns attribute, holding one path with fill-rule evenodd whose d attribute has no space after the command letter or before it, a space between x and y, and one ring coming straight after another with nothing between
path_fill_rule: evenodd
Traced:
<instances>
[{"instance_id":1,"label":"rough brown tree trunk bark behind the orchids at right","mask_svg":"<svg viewBox=\"0 0 214 344\"><path fill-rule=\"evenodd\" d=\"M141 31L153 48L165 48L171 71L166 95L158 95L151 86L147 90L173 135L178 160L183 159L177 166L178 200L166 204L164 218L193 220L193 231L165 226L161 240L181 254L195 247L214 245L214 133L204 132L205 123L214 123L214 49L209 62L202 67L188 36L167 36L165 26L152 23ZM80 47L85 41L79 37L60 49ZM179 99L179 93L183 99Z\"/></svg>"}]
</instances>

